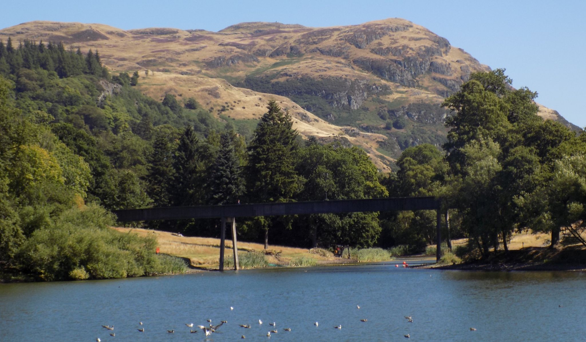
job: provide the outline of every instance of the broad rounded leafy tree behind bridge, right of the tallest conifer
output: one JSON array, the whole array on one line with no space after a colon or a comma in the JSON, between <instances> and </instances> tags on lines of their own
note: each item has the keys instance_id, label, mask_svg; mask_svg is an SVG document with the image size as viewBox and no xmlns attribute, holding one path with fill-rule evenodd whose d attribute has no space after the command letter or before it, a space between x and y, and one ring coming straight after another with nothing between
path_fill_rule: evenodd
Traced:
<instances>
[{"instance_id":1,"label":"broad rounded leafy tree behind bridge, right of the tallest conifer","mask_svg":"<svg viewBox=\"0 0 586 342\"><path fill-rule=\"evenodd\" d=\"M304 177L302 201L367 199L388 195L379 183L376 167L360 149L339 142L325 146L311 143L298 151L297 171ZM370 247L380 235L377 213L311 214L301 217L311 247L348 244Z\"/></svg>"}]
</instances>

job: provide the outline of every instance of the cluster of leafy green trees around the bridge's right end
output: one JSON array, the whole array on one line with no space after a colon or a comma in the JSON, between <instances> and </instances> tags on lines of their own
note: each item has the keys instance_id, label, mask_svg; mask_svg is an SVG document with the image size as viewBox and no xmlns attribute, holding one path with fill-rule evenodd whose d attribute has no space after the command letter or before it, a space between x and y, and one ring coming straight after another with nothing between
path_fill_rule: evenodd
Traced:
<instances>
[{"instance_id":1,"label":"cluster of leafy green trees around the bridge's right end","mask_svg":"<svg viewBox=\"0 0 586 342\"><path fill-rule=\"evenodd\" d=\"M511 234L523 230L550 232L555 247L561 228L586 217L586 135L540 118L537 93L513 90L504 71L472 74L444 101L445 155L430 145L409 148L396 182L387 180L404 196L444 197L457 208L448 233L468 237L481 255L507 251ZM400 242L435 242L431 213L400 213L387 224Z\"/></svg>"}]
</instances>

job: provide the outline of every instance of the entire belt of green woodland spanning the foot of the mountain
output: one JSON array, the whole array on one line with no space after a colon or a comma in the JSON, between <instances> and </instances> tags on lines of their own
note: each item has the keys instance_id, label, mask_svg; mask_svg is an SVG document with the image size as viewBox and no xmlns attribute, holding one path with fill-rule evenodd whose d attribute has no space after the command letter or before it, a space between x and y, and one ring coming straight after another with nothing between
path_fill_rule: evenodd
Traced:
<instances>
[{"instance_id":1,"label":"entire belt of green woodland spanning the foot of the mountain","mask_svg":"<svg viewBox=\"0 0 586 342\"><path fill-rule=\"evenodd\" d=\"M488 254L512 232L551 232L584 217L585 135L537 116L536 93L503 70L473 74L447 98L448 142L408 148L382 176L358 148L302 141L271 101L245 139L194 98L161 102L111 77L98 52L0 43L0 268L38 279L180 271L155 241L108 228L108 210L385 196L441 196L452 237ZM148 77L148 75L145 75ZM140 223L137 223L140 224ZM143 223L217 236L217 220ZM434 243L435 213L255 217L246 240L332 247ZM445 236L445 235L444 235Z\"/></svg>"}]
</instances>

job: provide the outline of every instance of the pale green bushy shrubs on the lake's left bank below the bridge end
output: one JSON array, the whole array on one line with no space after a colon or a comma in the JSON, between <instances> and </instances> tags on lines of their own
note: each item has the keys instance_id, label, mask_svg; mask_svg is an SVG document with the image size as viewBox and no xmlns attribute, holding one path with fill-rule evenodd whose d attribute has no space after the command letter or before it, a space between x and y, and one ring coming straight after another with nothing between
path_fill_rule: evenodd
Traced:
<instances>
[{"instance_id":1,"label":"pale green bushy shrubs on the lake's left bank below the bridge end","mask_svg":"<svg viewBox=\"0 0 586 342\"><path fill-rule=\"evenodd\" d=\"M108 228L112 217L96 205L64 211L19 248L18 259L45 281L125 278L185 272L185 262L157 257L154 237Z\"/></svg>"}]
</instances>

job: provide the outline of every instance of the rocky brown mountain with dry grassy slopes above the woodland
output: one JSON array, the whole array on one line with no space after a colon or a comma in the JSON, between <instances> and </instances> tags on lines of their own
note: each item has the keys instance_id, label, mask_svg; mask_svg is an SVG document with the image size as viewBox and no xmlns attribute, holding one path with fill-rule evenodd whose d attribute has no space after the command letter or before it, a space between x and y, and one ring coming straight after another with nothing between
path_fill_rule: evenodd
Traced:
<instances>
[{"instance_id":1,"label":"rocky brown mountain with dry grassy slopes above the woodland","mask_svg":"<svg viewBox=\"0 0 586 342\"><path fill-rule=\"evenodd\" d=\"M330 28L251 22L219 32L29 22L0 30L0 40L8 37L98 50L110 70L139 70L144 93L193 96L222 119L255 120L277 96L302 135L361 146L381 170L410 146L441 145L441 101L471 73L490 70L404 19ZM571 126L556 111L540 114Z\"/></svg>"}]
</instances>

